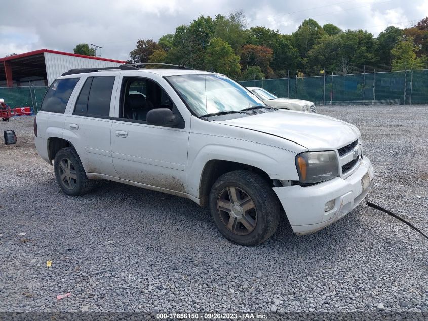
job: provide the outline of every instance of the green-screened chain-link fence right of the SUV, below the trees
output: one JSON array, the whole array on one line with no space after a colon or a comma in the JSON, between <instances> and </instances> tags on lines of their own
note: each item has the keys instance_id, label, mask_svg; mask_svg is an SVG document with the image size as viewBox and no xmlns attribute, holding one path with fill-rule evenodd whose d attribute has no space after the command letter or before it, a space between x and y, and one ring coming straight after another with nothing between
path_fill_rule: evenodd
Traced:
<instances>
[{"instance_id":1,"label":"green-screened chain-link fence right of the SUV, below the trees","mask_svg":"<svg viewBox=\"0 0 428 321\"><path fill-rule=\"evenodd\" d=\"M240 82L276 94L324 105L427 104L428 69L260 79Z\"/></svg>"}]
</instances>

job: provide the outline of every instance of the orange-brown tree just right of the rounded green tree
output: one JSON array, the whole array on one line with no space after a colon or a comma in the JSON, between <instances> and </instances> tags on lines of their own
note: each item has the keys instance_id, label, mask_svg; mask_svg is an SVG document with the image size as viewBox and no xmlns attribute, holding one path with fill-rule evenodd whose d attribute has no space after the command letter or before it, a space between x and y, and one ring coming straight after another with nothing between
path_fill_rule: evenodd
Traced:
<instances>
[{"instance_id":1,"label":"orange-brown tree just right of the rounded green tree","mask_svg":"<svg viewBox=\"0 0 428 321\"><path fill-rule=\"evenodd\" d=\"M250 66L259 66L263 73L272 73L273 70L270 68L272 53L272 49L264 46L243 46L241 50L241 57L245 59L243 61L244 70L247 70Z\"/></svg>"}]
</instances>

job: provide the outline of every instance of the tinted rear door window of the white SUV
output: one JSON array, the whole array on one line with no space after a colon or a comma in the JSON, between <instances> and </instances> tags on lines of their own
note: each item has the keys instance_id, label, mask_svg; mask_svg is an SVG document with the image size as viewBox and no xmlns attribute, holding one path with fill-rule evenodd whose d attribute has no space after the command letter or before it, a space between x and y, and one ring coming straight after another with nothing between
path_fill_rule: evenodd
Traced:
<instances>
[{"instance_id":1,"label":"tinted rear door window of the white SUV","mask_svg":"<svg viewBox=\"0 0 428 321\"><path fill-rule=\"evenodd\" d=\"M108 117L114 76L88 77L77 98L75 114Z\"/></svg>"}]
</instances>

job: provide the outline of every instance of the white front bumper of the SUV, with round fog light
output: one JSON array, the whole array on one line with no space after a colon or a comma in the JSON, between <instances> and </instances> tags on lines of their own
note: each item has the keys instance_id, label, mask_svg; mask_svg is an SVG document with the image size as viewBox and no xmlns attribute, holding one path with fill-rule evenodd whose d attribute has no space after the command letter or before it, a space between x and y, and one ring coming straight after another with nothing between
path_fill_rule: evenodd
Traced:
<instances>
[{"instance_id":1,"label":"white front bumper of the SUV, with round fog light","mask_svg":"<svg viewBox=\"0 0 428 321\"><path fill-rule=\"evenodd\" d=\"M368 175L370 181L363 190L362 179ZM341 219L353 210L373 186L373 167L363 156L359 168L346 179L336 177L312 186L299 185L274 187L294 233L313 233ZM366 176L367 178L367 176ZM367 185L367 179L365 179ZM335 200L333 209L324 212L325 204Z\"/></svg>"}]
</instances>

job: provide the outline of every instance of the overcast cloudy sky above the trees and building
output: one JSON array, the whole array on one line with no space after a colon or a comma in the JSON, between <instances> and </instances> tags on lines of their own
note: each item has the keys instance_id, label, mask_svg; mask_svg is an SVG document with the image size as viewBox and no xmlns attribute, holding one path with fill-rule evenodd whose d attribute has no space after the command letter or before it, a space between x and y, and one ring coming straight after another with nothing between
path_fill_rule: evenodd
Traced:
<instances>
[{"instance_id":1,"label":"overcast cloudy sky above the trees and building","mask_svg":"<svg viewBox=\"0 0 428 321\"><path fill-rule=\"evenodd\" d=\"M0 57L48 48L73 52L96 44L102 57L127 60L138 39L158 40L200 15L243 10L249 26L291 34L306 18L375 36L428 16L428 0L2 0Z\"/></svg>"}]
</instances>

